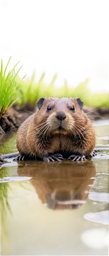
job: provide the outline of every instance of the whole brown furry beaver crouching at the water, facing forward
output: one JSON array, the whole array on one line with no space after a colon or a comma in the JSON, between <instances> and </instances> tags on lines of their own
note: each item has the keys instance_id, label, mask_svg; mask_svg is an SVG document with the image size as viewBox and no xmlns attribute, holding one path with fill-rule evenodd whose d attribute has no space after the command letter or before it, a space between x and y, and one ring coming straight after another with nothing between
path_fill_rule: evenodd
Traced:
<instances>
[{"instance_id":1,"label":"whole brown furry beaver crouching at the water, facing forward","mask_svg":"<svg viewBox=\"0 0 109 256\"><path fill-rule=\"evenodd\" d=\"M96 155L96 132L79 98L40 98L18 129L14 160L84 161Z\"/></svg>"}]
</instances>

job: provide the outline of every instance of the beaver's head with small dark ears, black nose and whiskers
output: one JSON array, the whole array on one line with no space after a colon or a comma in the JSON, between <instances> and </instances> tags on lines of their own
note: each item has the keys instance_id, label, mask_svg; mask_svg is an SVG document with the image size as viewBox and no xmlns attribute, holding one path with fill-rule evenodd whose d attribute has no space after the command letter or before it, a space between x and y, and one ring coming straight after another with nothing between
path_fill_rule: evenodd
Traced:
<instances>
[{"instance_id":1,"label":"beaver's head with small dark ears, black nose and whiskers","mask_svg":"<svg viewBox=\"0 0 109 256\"><path fill-rule=\"evenodd\" d=\"M48 134L76 133L85 122L85 114L81 109L84 102L80 98L40 98L37 102L39 109L38 122ZM46 125L45 125L46 124ZM46 130L47 129L47 130ZM42 129L43 130L43 129ZM42 132L41 130L41 132Z\"/></svg>"}]
</instances>

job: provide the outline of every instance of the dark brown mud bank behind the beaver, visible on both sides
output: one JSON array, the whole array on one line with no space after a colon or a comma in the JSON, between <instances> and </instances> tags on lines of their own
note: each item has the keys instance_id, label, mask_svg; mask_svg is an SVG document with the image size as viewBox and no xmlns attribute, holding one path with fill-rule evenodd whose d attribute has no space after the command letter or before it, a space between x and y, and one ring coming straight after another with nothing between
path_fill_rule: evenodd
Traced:
<instances>
[{"instance_id":1,"label":"dark brown mud bank behind the beaver, visible on both sides","mask_svg":"<svg viewBox=\"0 0 109 256\"><path fill-rule=\"evenodd\" d=\"M10 131L16 132L20 124L35 111L36 108L33 105L14 106L14 108L9 109L5 118L0 118L0 134L2 135ZM83 111L91 120L99 120L100 117L105 119L109 117L109 109L105 108L94 109L84 107Z\"/></svg>"}]
</instances>

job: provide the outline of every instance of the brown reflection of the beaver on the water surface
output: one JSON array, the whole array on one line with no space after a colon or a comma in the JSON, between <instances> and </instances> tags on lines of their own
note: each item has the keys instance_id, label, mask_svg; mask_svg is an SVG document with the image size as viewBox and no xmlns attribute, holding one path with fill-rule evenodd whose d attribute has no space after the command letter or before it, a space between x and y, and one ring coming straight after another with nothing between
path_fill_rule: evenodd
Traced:
<instances>
[{"instance_id":1,"label":"brown reflection of the beaver on the water surface","mask_svg":"<svg viewBox=\"0 0 109 256\"><path fill-rule=\"evenodd\" d=\"M78 209L86 202L96 175L92 161L21 164L19 176L32 177L29 181L42 204L51 209Z\"/></svg>"}]
</instances>

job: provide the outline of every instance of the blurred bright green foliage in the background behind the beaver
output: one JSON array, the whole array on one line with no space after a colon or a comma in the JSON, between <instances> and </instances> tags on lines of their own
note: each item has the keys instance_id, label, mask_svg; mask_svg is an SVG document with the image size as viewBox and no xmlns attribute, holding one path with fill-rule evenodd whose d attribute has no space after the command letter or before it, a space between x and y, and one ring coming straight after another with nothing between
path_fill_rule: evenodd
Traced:
<instances>
[{"instance_id":1,"label":"blurred bright green foliage in the background behind the beaver","mask_svg":"<svg viewBox=\"0 0 109 256\"><path fill-rule=\"evenodd\" d=\"M19 105L26 103L36 104L40 97L76 97L84 100L84 104L90 107L100 106L109 108L109 91L106 89L93 89L91 87L92 76L85 76L75 84L71 85L66 77L62 78L62 83L57 84L59 72L52 72L47 79L47 71L38 73L36 68L32 69L26 77L18 77L16 80L17 89L15 96L19 98L16 103ZM25 78L24 78L25 77ZM13 96L13 101L15 100Z\"/></svg>"}]
</instances>

